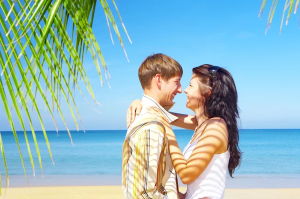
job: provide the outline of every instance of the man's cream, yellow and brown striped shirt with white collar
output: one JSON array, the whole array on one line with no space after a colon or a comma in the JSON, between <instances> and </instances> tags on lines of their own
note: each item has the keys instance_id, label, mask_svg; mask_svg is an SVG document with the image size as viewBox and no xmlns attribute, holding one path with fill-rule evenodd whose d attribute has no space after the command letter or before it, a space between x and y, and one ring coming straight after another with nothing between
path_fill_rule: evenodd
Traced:
<instances>
[{"instance_id":1,"label":"man's cream, yellow and brown striped shirt with white collar","mask_svg":"<svg viewBox=\"0 0 300 199\"><path fill-rule=\"evenodd\" d=\"M178 182L168 151L165 129L147 107L159 108L169 122L177 119L153 98L143 95L142 109L129 126L123 143L122 189L125 199L177 199Z\"/></svg>"}]
</instances>

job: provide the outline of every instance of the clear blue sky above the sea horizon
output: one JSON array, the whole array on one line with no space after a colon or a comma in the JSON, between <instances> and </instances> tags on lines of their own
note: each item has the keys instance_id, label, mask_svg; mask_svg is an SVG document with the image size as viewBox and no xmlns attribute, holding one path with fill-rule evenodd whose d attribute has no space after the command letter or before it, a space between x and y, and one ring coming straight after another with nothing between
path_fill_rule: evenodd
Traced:
<instances>
[{"instance_id":1,"label":"clear blue sky above the sea horizon","mask_svg":"<svg viewBox=\"0 0 300 199\"><path fill-rule=\"evenodd\" d=\"M93 31L103 52L111 78L101 88L95 66L86 55L84 67L90 78L96 99L102 104L94 111L76 92L76 104L84 129L126 129L126 109L133 99L141 98L137 70L151 53L165 53L183 67L184 89L191 77L192 67L210 63L231 72L238 91L240 128L300 128L300 29L296 14L288 25L279 27L284 1L279 1L270 29L264 34L271 1L259 20L259 0L245 1L116 1L123 22L132 40L115 14L127 62L118 39L111 43L105 16L97 4ZM279 4L281 3L281 4ZM113 13L113 4L110 3ZM84 92L86 93L86 92ZM87 93L86 93L87 96ZM90 97L87 96L90 100ZM191 114L185 107L184 93L175 97L175 112ZM91 101L91 100L90 100ZM42 106L42 103L40 103ZM41 108L44 109L44 108ZM75 129L69 110L62 103L69 129ZM54 125L48 112L42 111L47 130ZM14 115L14 120L17 117ZM55 113L59 130L65 130L59 114ZM3 106L0 105L0 130L10 130ZM34 127L40 129L33 116ZM3 123L2 123L3 121ZM17 129L21 129L18 122ZM28 123L26 128L29 129ZM79 129L82 127L79 126Z\"/></svg>"}]
</instances>

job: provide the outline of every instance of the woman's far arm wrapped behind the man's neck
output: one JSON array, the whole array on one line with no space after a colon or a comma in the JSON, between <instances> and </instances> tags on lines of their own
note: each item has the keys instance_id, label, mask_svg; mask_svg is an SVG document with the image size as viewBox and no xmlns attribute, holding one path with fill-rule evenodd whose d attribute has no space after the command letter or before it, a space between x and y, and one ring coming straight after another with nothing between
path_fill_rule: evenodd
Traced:
<instances>
[{"instance_id":1,"label":"woman's far arm wrapped behind the man's neck","mask_svg":"<svg viewBox=\"0 0 300 199\"><path fill-rule=\"evenodd\" d=\"M138 115L140 113L141 108L142 108L142 103L139 99L135 99L134 101L131 102L129 108L127 109L127 115L126 115L127 127L130 125L130 123L133 122L135 118L135 114ZM195 115L180 114L175 112L170 112L170 113L178 117L178 119L171 122L172 125L185 128L185 129L190 129L190 130L194 130L196 128L197 120Z\"/></svg>"}]
</instances>

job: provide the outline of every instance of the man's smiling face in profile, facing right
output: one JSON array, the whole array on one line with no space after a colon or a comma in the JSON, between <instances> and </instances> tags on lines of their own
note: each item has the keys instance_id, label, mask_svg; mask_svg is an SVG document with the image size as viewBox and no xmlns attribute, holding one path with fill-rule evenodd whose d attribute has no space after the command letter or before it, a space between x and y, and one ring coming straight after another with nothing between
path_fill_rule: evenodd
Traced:
<instances>
[{"instance_id":1,"label":"man's smiling face in profile, facing right","mask_svg":"<svg viewBox=\"0 0 300 199\"><path fill-rule=\"evenodd\" d=\"M161 81L161 100L160 105L171 105L173 103L173 99L177 93L182 92L181 84L180 84L180 75L176 75L169 80Z\"/></svg>"}]
</instances>

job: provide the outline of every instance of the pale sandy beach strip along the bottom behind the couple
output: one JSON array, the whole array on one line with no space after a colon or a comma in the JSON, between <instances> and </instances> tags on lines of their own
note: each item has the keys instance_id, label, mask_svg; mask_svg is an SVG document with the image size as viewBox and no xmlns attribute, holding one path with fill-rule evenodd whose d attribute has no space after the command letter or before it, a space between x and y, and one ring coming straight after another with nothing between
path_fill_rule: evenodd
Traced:
<instances>
[{"instance_id":1,"label":"pale sandy beach strip along the bottom behind the couple","mask_svg":"<svg viewBox=\"0 0 300 199\"><path fill-rule=\"evenodd\" d=\"M185 191L185 187L180 187ZM226 189L226 199L250 199L250 198L299 198L300 188L253 188L253 189ZM120 199L122 197L121 186L49 186L49 187L17 187L7 188L5 199Z\"/></svg>"}]
</instances>

